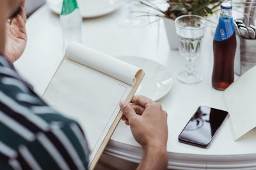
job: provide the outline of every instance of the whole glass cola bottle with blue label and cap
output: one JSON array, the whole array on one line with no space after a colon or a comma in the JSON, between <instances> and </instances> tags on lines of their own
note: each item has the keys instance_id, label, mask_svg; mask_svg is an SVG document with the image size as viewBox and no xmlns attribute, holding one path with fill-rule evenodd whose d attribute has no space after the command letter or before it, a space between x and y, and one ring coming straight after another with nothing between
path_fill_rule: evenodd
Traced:
<instances>
[{"instance_id":1,"label":"whole glass cola bottle with blue label and cap","mask_svg":"<svg viewBox=\"0 0 256 170\"><path fill-rule=\"evenodd\" d=\"M214 66L212 87L225 90L234 81L236 33L232 17L232 4L222 3L219 24L213 40Z\"/></svg>"}]
</instances>

